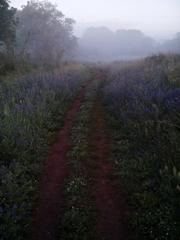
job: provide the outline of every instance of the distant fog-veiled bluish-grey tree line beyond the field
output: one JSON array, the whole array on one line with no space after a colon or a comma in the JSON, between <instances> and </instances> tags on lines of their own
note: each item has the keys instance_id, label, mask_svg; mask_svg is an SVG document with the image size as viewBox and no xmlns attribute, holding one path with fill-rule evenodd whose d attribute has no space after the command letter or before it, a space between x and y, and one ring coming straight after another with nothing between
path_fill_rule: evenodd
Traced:
<instances>
[{"instance_id":1,"label":"distant fog-veiled bluish-grey tree line beyond the field","mask_svg":"<svg viewBox=\"0 0 180 240\"><path fill-rule=\"evenodd\" d=\"M88 28L79 38L76 58L84 61L129 60L156 53L180 52L180 33L163 42L146 36L140 30L107 27Z\"/></svg>"}]
</instances>

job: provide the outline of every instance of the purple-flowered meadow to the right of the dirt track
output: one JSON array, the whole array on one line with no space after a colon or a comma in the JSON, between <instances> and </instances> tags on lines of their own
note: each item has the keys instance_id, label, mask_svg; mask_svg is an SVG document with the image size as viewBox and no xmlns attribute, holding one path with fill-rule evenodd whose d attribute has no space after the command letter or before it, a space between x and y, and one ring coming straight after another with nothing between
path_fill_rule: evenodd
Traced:
<instances>
[{"instance_id":1,"label":"purple-flowered meadow to the right of the dirt track","mask_svg":"<svg viewBox=\"0 0 180 240\"><path fill-rule=\"evenodd\" d=\"M180 236L180 56L106 67L112 161L134 208L137 239Z\"/></svg>"}]
</instances>

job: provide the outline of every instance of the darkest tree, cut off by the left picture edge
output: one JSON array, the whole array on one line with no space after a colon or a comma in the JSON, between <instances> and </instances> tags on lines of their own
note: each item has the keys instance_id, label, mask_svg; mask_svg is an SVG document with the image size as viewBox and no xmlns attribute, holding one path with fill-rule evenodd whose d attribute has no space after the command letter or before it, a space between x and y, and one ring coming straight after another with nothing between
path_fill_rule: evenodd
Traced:
<instances>
[{"instance_id":1,"label":"darkest tree, cut off by the left picture edge","mask_svg":"<svg viewBox=\"0 0 180 240\"><path fill-rule=\"evenodd\" d=\"M0 41L3 42L8 51L12 50L15 42L15 8L9 7L7 0L0 0Z\"/></svg>"}]
</instances>

